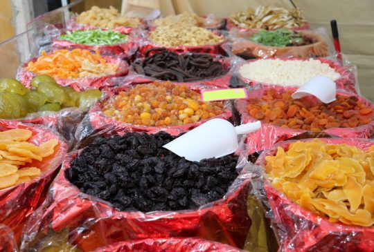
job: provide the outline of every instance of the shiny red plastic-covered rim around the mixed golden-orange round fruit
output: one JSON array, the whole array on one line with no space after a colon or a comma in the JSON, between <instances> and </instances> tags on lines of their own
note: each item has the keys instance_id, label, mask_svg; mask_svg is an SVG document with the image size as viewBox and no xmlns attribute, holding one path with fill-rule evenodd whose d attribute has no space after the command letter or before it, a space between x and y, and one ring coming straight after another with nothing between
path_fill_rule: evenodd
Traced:
<instances>
[{"instance_id":1,"label":"shiny red plastic-covered rim around the mixed golden-orange round fruit","mask_svg":"<svg viewBox=\"0 0 374 252\"><path fill-rule=\"evenodd\" d=\"M202 86L204 87L204 86ZM118 88L110 88L109 90L105 90L105 97L103 101L106 99L111 99L114 95L118 94L121 90L126 90L127 88L131 88L131 86L122 86ZM201 91L197 87L193 88L193 90L199 92ZM134 125L134 124L126 124L124 122L118 122L116 119L112 117L107 117L101 111L101 104L103 101L98 102L96 106L92 107L89 110L89 113L86 117L84 117L82 123L78 125L78 130L75 134L76 139L83 139L88 135L91 135L96 132L100 132L101 130L111 130L116 133L126 133L126 132L146 132L149 134L154 134L159 131L164 131L169 133L170 135L179 135L184 133L188 130L196 128L200 124L203 124L208 119L201 120L199 122L193 124L184 124L179 126L142 126L142 125ZM230 101L224 101L224 113L222 115L218 115L215 118L222 118L222 119L232 119L233 117L233 108Z\"/></svg>"}]
</instances>

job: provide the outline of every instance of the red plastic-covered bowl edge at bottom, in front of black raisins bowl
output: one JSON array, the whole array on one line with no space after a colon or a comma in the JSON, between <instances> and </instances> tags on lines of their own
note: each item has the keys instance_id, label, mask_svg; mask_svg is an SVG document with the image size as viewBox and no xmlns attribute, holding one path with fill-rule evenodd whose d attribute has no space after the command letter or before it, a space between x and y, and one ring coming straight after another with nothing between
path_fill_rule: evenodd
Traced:
<instances>
[{"instance_id":1,"label":"red plastic-covered bowl edge at bottom, in front of black raisins bowl","mask_svg":"<svg viewBox=\"0 0 374 252\"><path fill-rule=\"evenodd\" d=\"M118 242L96 249L94 252L240 252L241 249L227 244L211 242L197 238L144 239ZM244 252L244 251L243 251Z\"/></svg>"}]
</instances>

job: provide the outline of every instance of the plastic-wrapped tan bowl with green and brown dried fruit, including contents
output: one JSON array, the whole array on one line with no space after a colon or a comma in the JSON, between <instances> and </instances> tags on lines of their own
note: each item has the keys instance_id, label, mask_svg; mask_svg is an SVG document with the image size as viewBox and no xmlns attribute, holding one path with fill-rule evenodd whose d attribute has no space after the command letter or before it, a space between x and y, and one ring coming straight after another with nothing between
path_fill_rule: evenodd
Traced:
<instances>
[{"instance_id":1,"label":"plastic-wrapped tan bowl with green and brown dried fruit, including contents","mask_svg":"<svg viewBox=\"0 0 374 252\"><path fill-rule=\"evenodd\" d=\"M247 59L328 56L328 45L323 37L310 30L232 31L231 37L234 40L231 50L233 54Z\"/></svg>"}]
</instances>

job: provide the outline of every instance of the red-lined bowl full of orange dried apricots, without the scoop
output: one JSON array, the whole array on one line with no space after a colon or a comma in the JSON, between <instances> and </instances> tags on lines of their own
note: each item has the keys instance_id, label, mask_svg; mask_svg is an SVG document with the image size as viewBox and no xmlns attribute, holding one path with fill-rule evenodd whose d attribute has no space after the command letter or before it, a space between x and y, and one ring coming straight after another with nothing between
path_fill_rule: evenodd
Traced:
<instances>
[{"instance_id":1,"label":"red-lined bowl full of orange dried apricots, without the scoop","mask_svg":"<svg viewBox=\"0 0 374 252\"><path fill-rule=\"evenodd\" d=\"M276 142L310 133L339 137L373 137L373 104L352 93L337 93L323 104L315 97L293 99L296 88L260 88L249 99L237 101L242 123L260 119L260 130L247 135L250 153L271 148Z\"/></svg>"}]
</instances>

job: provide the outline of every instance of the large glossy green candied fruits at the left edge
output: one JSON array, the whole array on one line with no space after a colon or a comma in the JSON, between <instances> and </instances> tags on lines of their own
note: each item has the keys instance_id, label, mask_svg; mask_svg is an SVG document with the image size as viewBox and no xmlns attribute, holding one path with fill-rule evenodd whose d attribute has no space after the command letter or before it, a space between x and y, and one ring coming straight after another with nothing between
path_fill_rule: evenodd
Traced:
<instances>
[{"instance_id":1,"label":"large glossy green candied fruits at the left edge","mask_svg":"<svg viewBox=\"0 0 374 252\"><path fill-rule=\"evenodd\" d=\"M31 89L16 79L0 79L0 118L17 119L38 111L59 111L61 108L88 108L100 99L100 90L77 92L71 87L56 84L48 75L39 75L31 80Z\"/></svg>"}]
</instances>

